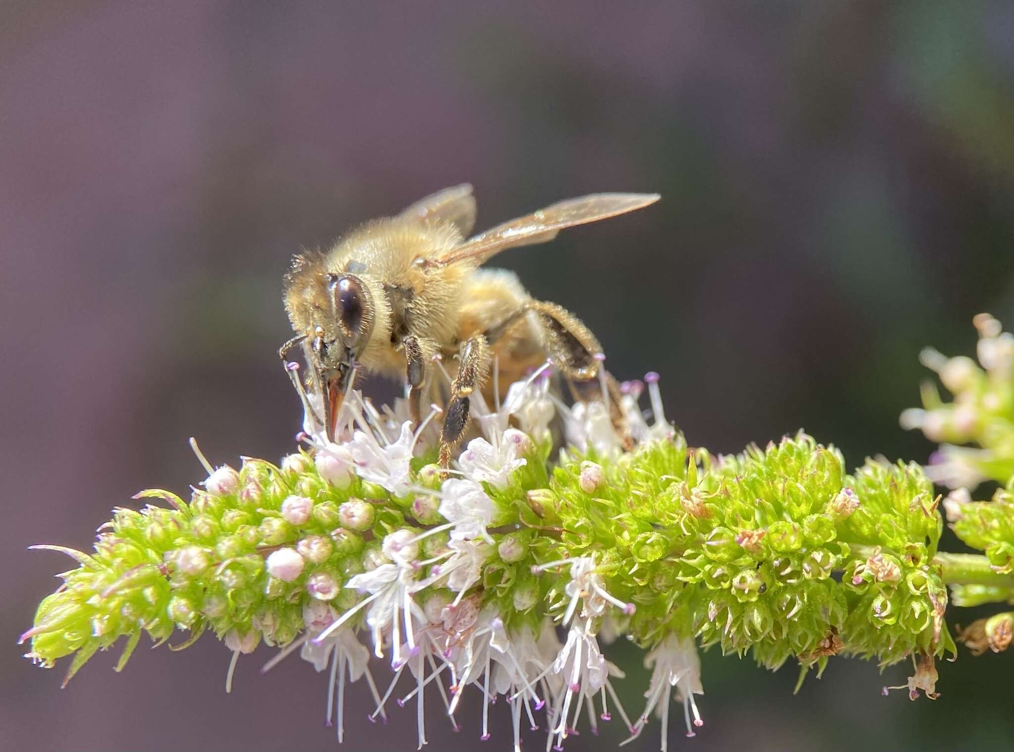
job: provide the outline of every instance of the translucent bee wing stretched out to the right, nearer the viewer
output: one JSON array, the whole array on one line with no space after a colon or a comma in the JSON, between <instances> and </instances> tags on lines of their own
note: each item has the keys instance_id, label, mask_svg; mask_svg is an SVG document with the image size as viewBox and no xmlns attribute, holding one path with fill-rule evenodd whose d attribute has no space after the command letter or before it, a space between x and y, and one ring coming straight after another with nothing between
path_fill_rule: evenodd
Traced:
<instances>
[{"instance_id":1,"label":"translucent bee wing stretched out to the right, nearer the viewer","mask_svg":"<svg viewBox=\"0 0 1014 752\"><path fill-rule=\"evenodd\" d=\"M444 265L473 260L479 266L506 248L545 243L555 238L565 227L597 222L643 209L658 199L658 194L592 194L568 199L525 217L497 225L468 238L433 260Z\"/></svg>"}]
</instances>

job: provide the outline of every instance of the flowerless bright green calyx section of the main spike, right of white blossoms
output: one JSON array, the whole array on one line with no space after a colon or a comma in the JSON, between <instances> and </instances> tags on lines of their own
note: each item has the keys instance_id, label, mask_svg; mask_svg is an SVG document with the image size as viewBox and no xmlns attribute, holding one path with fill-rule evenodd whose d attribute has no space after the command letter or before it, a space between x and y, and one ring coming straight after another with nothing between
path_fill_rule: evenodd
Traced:
<instances>
[{"instance_id":1,"label":"flowerless bright green calyx section of the main spike, right of white blossoms","mask_svg":"<svg viewBox=\"0 0 1014 752\"><path fill-rule=\"evenodd\" d=\"M932 562L942 520L917 465L867 461L850 476L805 434L714 460L677 435L588 495L581 459L554 473L559 552L600 551L607 589L637 606L636 640L694 633L769 668L953 651Z\"/></svg>"}]
</instances>

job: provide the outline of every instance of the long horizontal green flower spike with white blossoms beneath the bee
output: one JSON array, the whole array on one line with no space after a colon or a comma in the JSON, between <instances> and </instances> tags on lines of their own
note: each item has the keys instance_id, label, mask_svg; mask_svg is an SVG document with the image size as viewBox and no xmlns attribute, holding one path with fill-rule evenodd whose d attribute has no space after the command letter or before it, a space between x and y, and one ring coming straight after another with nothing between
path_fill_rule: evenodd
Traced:
<instances>
[{"instance_id":1,"label":"long horizontal green flower spike with white blossoms beneath the bee","mask_svg":"<svg viewBox=\"0 0 1014 752\"><path fill-rule=\"evenodd\" d=\"M93 553L41 546L77 568L22 635L28 657L50 667L72 655L69 679L120 637L118 670L142 632L156 644L188 632L180 650L210 628L232 651L227 688L262 642L280 648L262 672L297 651L327 670L339 741L346 691L363 679L371 720L414 704L420 746L427 715L457 728L474 687L484 739L493 701L508 698L515 752L522 723L559 750L613 712L628 741L660 718L664 751L670 702L689 736L703 724L699 646L771 669L794 660L800 681L838 654L909 659L900 688L936 697L935 659L954 652L947 585L960 603L1014 600L1011 488L989 503L949 496L955 532L985 555L940 552L940 498L918 465L867 460L849 474L802 432L714 456L666 420L657 374L607 386L566 405L547 366L492 408L474 393L481 435L446 479L433 464L438 408L414 429L405 400L378 409L350 391L329 441L319 395L305 394L306 448L278 465L215 468L198 451L208 476L190 501L143 492L167 507L116 509ZM960 637L999 651L1012 631L1014 617L997 614ZM619 634L652 670L633 722L602 650ZM367 646L390 658L386 685Z\"/></svg>"}]
</instances>

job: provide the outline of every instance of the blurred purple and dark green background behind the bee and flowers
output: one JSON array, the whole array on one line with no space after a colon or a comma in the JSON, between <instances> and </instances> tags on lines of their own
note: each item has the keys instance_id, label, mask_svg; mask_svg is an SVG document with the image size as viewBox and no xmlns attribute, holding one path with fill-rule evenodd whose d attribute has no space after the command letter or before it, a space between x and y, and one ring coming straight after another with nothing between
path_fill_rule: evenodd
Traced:
<instances>
[{"instance_id":1,"label":"blurred purple and dark green background behind the bee and flowers","mask_svg":"<svg viewBox=\"0 0 1014 752\"><path fill-rule=\"evenodd\" d=\"M919 350L971 354L981 310L1014 325L1012 39L999 0L5 2L0 746L338 749L324 676L290 660L261 677L262 649L226 695L210 636L120 675L100 655L61 691L66 662L41 671L14 641L70 565L25 546L90 548L138 490L186 493L192 435L216 464L292 449L290 254L445 185L475 183L480 229L661 193L497 262L581 316L618 376L659 371L692 444L803 426L853 466L925 461L897 426ZM611 656L636 712L640 654ZM1012 668L962 652L938 701L910 702L880 695L908 667L835 660L794 696L794 669L712 651L706 726L676 724L671 748L1009 750ZM411 749L412 710L368 726L361 690L346 748ZM470 699L461 735L431 717L430 749L479 746Z\"/></svg>"}]
</instances>

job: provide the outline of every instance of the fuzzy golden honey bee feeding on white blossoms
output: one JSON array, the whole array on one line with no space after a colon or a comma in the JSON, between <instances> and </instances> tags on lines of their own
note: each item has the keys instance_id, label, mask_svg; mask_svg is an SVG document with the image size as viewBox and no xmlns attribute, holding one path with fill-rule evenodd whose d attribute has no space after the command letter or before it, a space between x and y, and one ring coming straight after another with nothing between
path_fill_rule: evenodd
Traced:
<instances>
[{"instance_id":1,"label":"fuzzy golden honey bee feeding on white blossoms","mask_svg":"<svg viewBox=\"0 0 1014 752\"><path fill-rule=\"evenodd\" d=\"M285 277L285 308L296 336L279 355L284 362L291 348L302 345L310 386L323 397L320 419L329 438L360 370L404 377L418 425L423 393L437 392L430 364L437 357L448 365L456 360L440 436L446 467L468 423L469 395L487 384L494 361L501 384L547 359L572 384L599 375L601 347L580 320L530 298L513 273L482 265L507 248L545 243L565 227L658 199L593 194L469 237L476 222L472 185L440 191L397 216L368 222L327 252L294 256ZM289 372L299 390L298 377Z\"/></svg>"}]
</instances>

